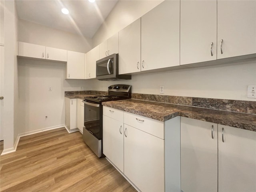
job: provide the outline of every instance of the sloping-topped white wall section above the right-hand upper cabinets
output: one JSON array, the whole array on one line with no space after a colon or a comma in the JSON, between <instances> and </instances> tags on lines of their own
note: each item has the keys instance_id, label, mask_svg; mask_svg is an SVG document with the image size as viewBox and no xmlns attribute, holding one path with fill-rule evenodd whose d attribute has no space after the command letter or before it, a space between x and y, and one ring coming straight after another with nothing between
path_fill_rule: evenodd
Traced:
<instances>
[{"instance_id":1,"label":"sloping-topped white wall section above the right-hand upper cabinets","mask_svg":"<svg viewBox=\"0 0 256 192\"><path fill-rule=\"evenodd\" d=\"M120 0L93 37L94 47L122 30L163 0Z\"/></svg>"}]
</instances>

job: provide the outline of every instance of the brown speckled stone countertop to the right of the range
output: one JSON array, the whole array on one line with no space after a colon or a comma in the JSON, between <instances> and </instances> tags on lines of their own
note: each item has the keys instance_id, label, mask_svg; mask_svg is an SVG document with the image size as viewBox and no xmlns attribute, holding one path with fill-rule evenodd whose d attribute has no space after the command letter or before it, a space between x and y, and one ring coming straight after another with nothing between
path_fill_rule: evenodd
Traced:
<instances>
[{"instance_id":1,"label":"brown speckled stone countertop to the right of the range","mask_svg":"<svg viewBox=\"0 0 256 192\"><path fill-rule=\"evenodd\" d=\"M158 121L167 121L168 119L172 119L176 116L182 116L240 129L256 131L256 115L251 114L204 109L200 107L174 105L153 101L143 101L137 99L108 101L103 102L102 105L151 119L156 119Z\"/></svg>"}]
</instances>

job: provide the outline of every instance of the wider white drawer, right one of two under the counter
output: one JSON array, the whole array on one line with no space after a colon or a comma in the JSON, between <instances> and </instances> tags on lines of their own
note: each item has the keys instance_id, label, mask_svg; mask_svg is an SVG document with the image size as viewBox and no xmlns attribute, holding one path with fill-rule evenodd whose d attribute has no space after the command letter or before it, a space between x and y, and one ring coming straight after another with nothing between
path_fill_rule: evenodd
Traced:
<instances>
[{"instance_id":1,"label":"wider white drawer, right one of two under the counter","mask_svg":"<svg viewBox=\"0 0 256 192\"><path fill-rule=\"evenodd\" d=\"M164 139L164 122L124 112L124 123Z\"/></svg>"}]
</instances>

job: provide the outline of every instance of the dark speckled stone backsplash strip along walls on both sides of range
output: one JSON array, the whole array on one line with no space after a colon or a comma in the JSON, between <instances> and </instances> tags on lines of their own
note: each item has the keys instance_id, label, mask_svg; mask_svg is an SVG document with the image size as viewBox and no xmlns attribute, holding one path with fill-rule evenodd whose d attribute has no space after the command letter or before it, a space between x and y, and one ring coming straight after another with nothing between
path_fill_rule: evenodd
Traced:
<instances>
[{"instance_id":1,"label":"dark speckled stone backsplash strip along walls on both sides of range","mask_svg":"<svg viewBox=\"0 0 256 192\"><path fill-rule=\"evenodd\" d=\"M108 91L65 91L65 95L96 94L107 95ZM222 111L233 111L240 113L256 114L255 101L240 101L229 99L210 99L200 97L180 97L170 95L150 95L141 93L132 93L132 99L141 99L146 101L157 101L162 103L172 103L178 105L188 105L208 109L218 109Z\"/></svg>"}]
</instances>

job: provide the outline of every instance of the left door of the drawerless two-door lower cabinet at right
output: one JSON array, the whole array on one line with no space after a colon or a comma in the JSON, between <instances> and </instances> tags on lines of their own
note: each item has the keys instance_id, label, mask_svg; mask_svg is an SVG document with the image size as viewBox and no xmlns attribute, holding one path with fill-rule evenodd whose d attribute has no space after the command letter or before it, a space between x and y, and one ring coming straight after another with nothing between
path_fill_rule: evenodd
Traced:
<instances>
[{"instance_id":1,"label":"left door of the drawerless two-door lower cabinet at right","mask_svg":"<svg viewBox=\"0 0 256 192\"><path fill-rule=\"evenodd\" d=\"M181 117L180 164L182 191L217 192L217 129L215 123Z\"/></svg>"}]
</instances>

